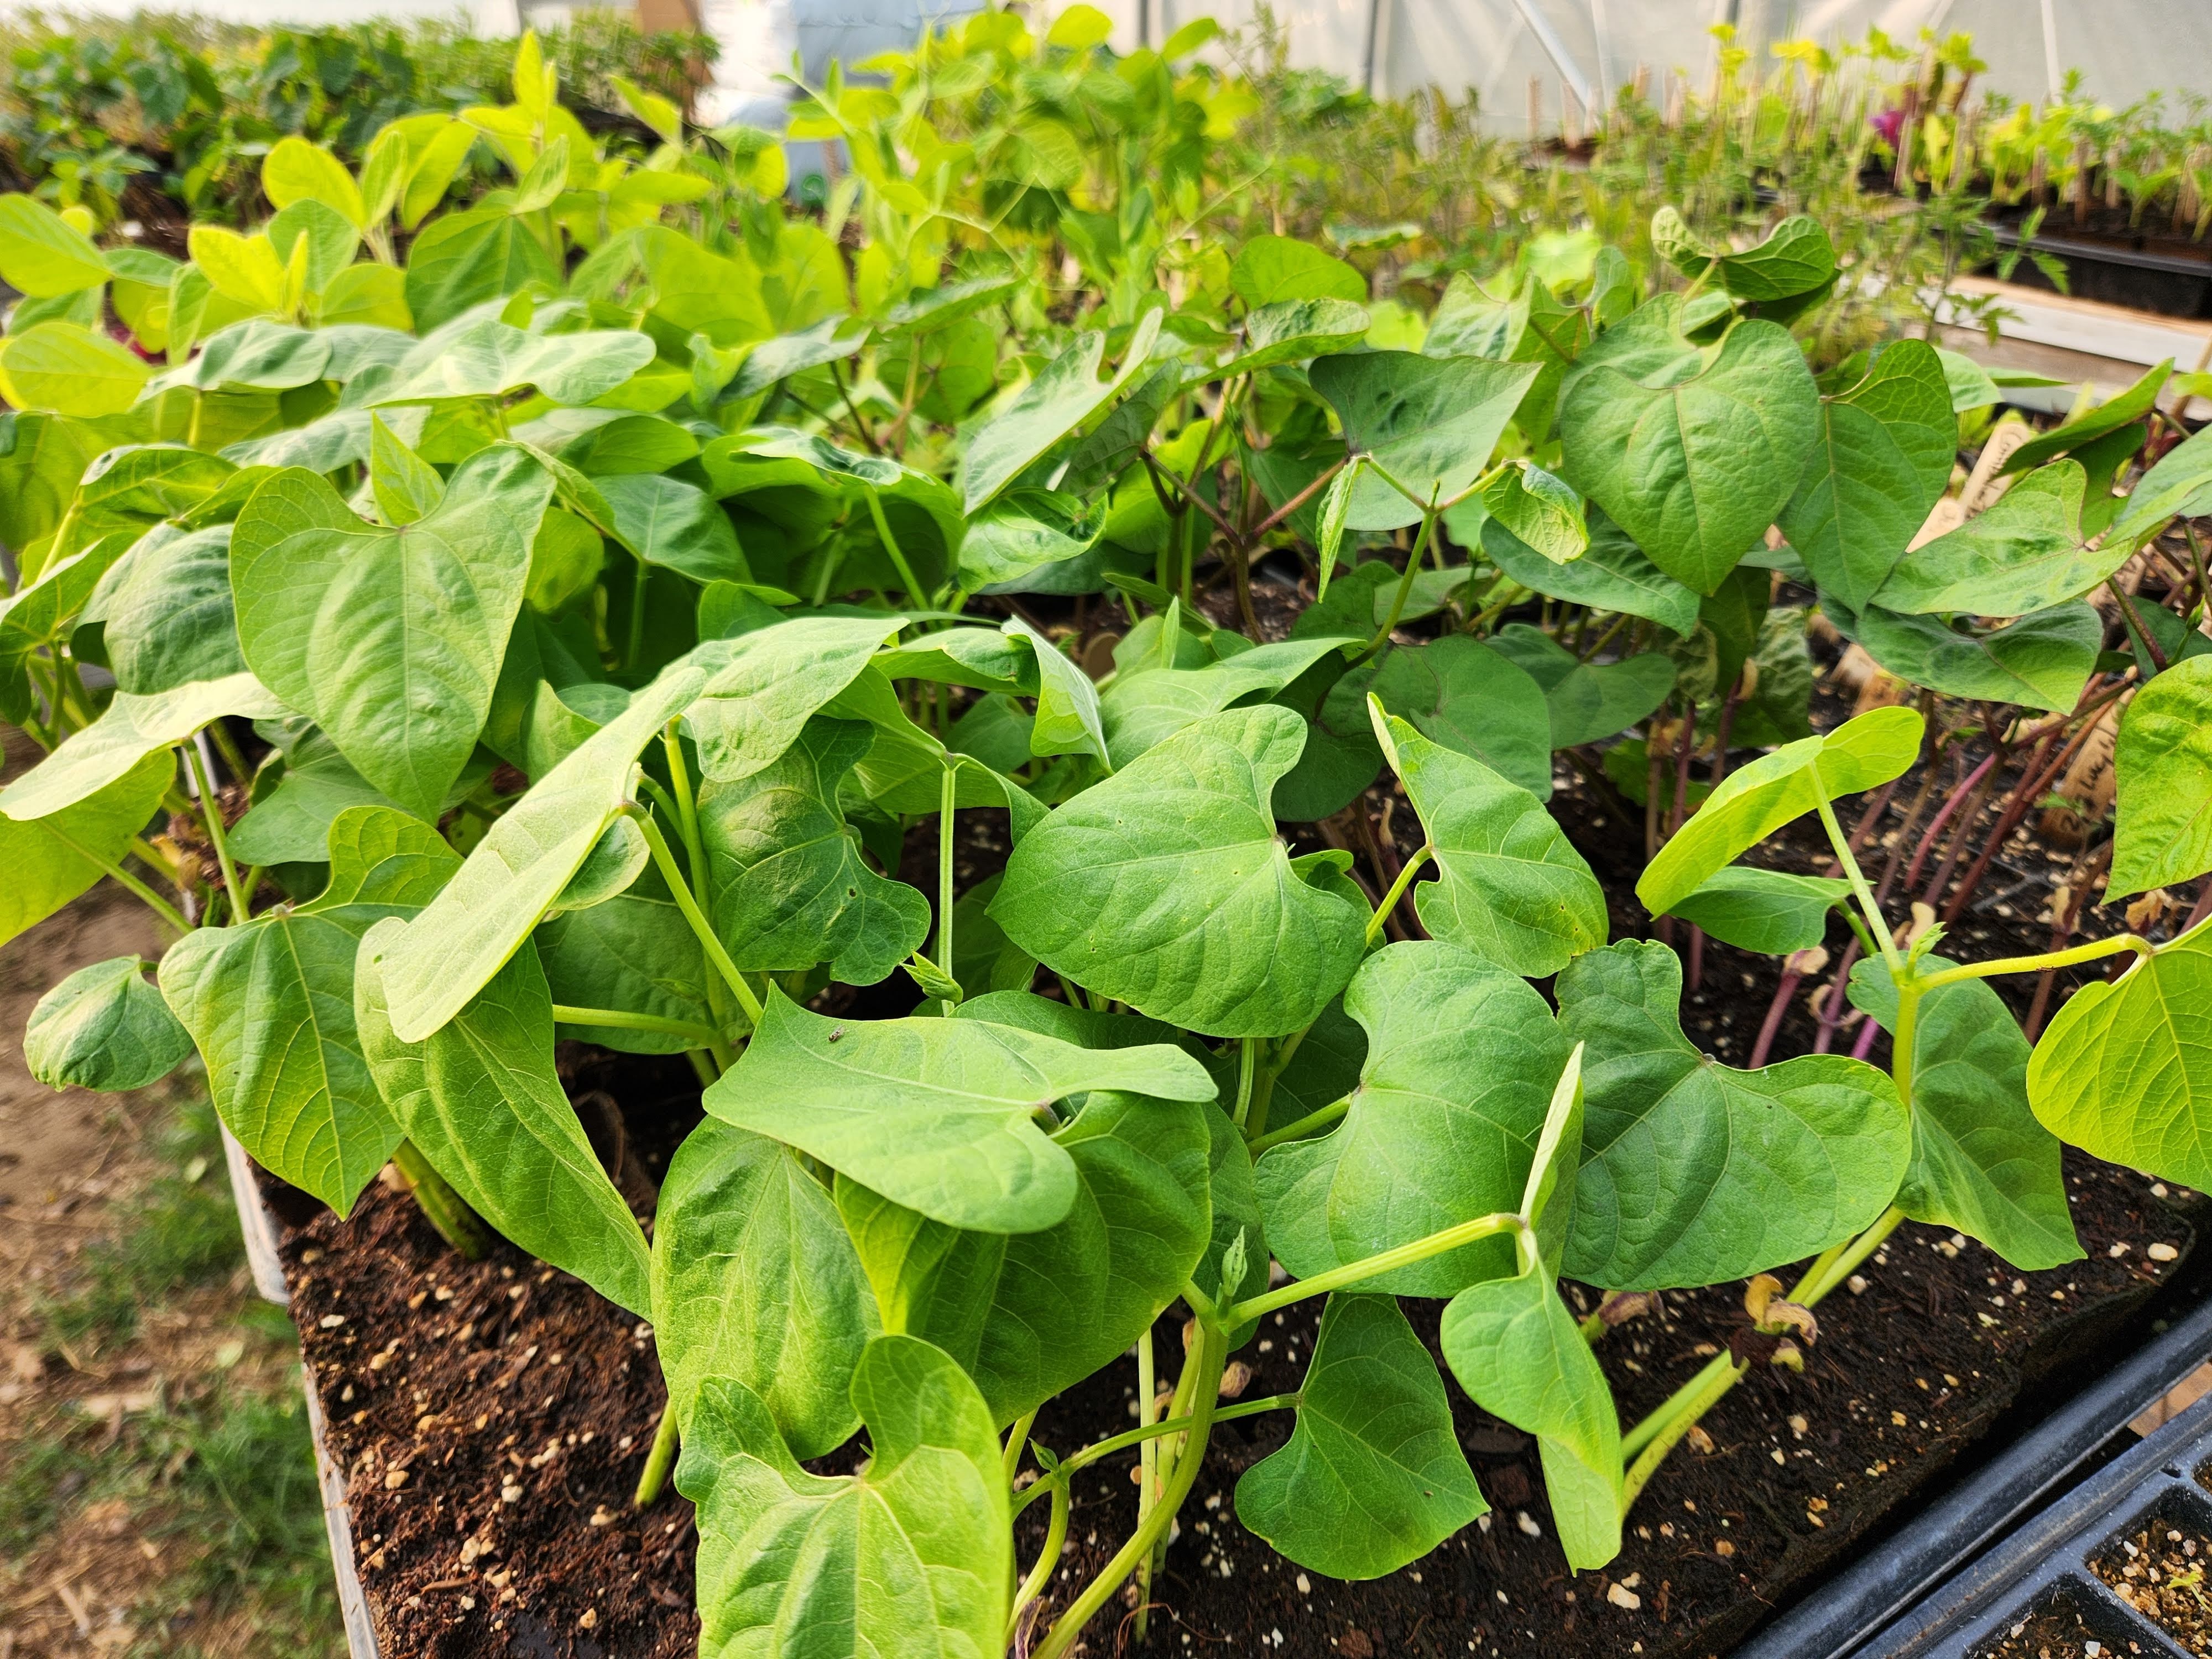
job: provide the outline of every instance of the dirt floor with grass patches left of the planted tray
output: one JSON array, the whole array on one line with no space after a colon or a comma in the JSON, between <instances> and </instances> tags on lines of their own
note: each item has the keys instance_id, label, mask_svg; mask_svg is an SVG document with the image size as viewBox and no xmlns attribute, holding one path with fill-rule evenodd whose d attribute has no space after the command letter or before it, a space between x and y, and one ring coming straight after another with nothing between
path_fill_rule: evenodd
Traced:
<instances>
[{"instance_id":1,"label":"dirt floor with grass patches left of the planted tray","mask_svg":"<svg viewBox=\"0 0 2212 1659\"><path fill-rule=\"evenodd\" d=\"M336 1659L296 1334L206 1095L22 1064L49 984L159 947L104 887L0 956L0 1659Z\"/></svg>"}]
</instances>

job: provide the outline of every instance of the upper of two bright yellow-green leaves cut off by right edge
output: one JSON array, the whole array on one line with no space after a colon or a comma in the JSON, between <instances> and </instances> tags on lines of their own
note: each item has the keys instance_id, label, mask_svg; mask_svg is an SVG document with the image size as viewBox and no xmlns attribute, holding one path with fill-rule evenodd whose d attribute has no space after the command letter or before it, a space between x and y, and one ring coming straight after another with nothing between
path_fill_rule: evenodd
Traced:
<instances>
[{"instance_id":1,"label":"upper of two bright yellow-green leaves cut off by right edge","mask_svg":"<svg viewBox=\"0 0 2212 1659\"><path fill-rule=\"evenodd\" d=\"M2212 869L2212 657L2177 661L2135 692L2112 759L2119 821L2106 898Z\"/></svg>"}]
</instances>

